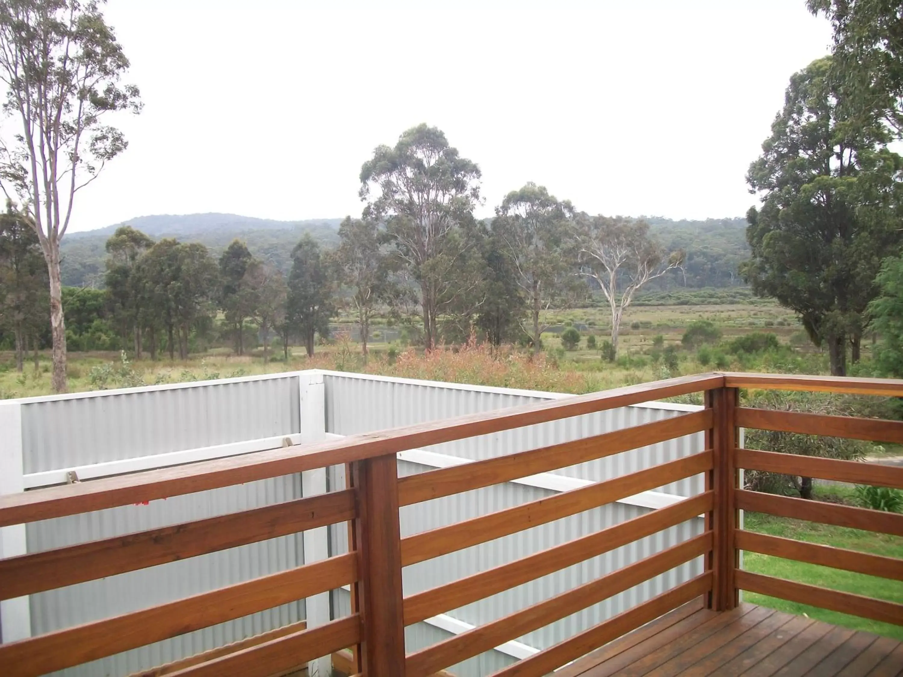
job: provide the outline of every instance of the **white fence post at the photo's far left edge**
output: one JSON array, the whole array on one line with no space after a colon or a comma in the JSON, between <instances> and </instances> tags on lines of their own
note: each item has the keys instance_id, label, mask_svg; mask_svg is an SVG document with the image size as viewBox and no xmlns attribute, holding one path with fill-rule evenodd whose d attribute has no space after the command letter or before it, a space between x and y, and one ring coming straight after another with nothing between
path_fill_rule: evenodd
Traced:
<instances>
[{"instance_id":1,"label":"white fence post at the photo's far left edge","mask_svg":"<svg viewBox=\"0 0 903 677\"><path fill-rule=\"evenodd\" d=\"M22 404L0 403L0 496L25 490L22 458ZM28 552L25 525L0 527L0 557ZM28 596L0 601L3 642L32 636L32 610Z\"/></svg>"}]
</instances>

